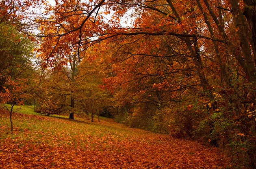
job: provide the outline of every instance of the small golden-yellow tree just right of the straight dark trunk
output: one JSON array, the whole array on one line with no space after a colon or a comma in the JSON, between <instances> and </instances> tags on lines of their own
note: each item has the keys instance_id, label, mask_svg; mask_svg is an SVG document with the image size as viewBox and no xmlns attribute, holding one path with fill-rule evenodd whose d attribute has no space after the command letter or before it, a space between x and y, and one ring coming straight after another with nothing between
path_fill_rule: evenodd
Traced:
<instances>
[{"instance_id":1,"label":"small golden-yellow tree just right of the straight dark trunk","mask_svg":"<svg viewBox=\"0 0 256 169\"><path fill-rule=\"evenodd\" d=\"M104 70L102 59L99 57L100 51L97 53L97 48L88 50L88 59L82 61L79 72L85 74L83 81L80 80L80 87L84 86L84 91L79 95L77 101L82 104L83 109L88 114L91 114L91 121L94 116L98 116L100 121L100 114L104 108L112 106L111 95L109 92L101 89L102 78L106 76L107 71Z\"/></svg>"}]
</instances>

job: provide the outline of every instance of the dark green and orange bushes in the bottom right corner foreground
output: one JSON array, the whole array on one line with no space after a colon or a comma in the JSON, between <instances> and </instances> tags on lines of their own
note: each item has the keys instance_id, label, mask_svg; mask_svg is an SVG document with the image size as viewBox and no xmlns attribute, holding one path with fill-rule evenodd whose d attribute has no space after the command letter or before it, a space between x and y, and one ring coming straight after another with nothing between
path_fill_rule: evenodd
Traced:
<instances>
[{"instance_id":1,"label":"dark green and orange bushes in the bottom right corner foreground","mask_svg":"<svg viewBox=\"0 0 256 169\"><path fill-rule=\"evenodd\" d=\"M242 90L246 92L241 92ZM255 91L250 85L242 84L232 89L216 89L214 96L218 109L210 110L209 116L200 122L197 129L197 137L202 137L200 133L206 134L205 131L208 130L210 132L205 136L209 142L215 140L218 146L229 146L233 162L238 167L252 168L256 157L256 118L252 93Z\"/></svg>"}]
</instances>

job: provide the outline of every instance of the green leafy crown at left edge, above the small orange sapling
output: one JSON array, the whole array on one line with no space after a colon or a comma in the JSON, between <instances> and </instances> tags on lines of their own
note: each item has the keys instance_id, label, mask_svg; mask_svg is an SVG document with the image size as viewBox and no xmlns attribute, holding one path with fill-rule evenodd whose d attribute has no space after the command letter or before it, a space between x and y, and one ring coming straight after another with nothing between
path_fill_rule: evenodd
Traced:
<instances>
[{"instance_id":1,"label":"green leafy crown at left edge, above the small orange sapling","mask_svg":"<svg viewBox=\"0 0 256 169\"><path fill-rule=\"evenodd\" d=\"M0 24L0 91L4 91L6 80L10 78L31 77L34 44L23 35L10 25Z\"/></svg>"}]
</instances>

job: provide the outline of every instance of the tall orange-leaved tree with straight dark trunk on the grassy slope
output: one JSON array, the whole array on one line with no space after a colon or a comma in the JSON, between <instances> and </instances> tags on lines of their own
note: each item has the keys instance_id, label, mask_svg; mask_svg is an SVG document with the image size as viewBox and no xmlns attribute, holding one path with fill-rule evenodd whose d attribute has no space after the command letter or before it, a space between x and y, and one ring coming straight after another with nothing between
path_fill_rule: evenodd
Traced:
<instances>
[{"instance_id":1,"label":"tall orange-leaved tree with straight dark trunk on the grassy slope","mask_svg":"<svg viewBox=\"0 0 256 169\"><path fill-rule=\"evenodd\" d=\"M93 5L93 2L87 4L76 0L70 2L63 1L63 3L56 2L54 7L47 7L46 14L50 15L49 18L38 19L41 31L40 36L44 36L40 48L37 49L39 57L43 60L41 63L42 67L52 67L61 70L67 76L69 84L72 86L75 84L76 78L79 78L76 72L79 62L83 59L83 51L86 49L86 46L81 46L80 44L87 43L88 38L93 34L93 32L88 32L89 36L85 33L82 34L82 27L80 26L99 7L96 5L90 13L87 11L89 10L87 8L91 7L91 5ZM51 11L54 12L51 13ZM91 27L88 25L87 29L91 29ZM63 36L63 34L67 36ZM67 65L69 65L69 68ZM80 74L79 76L85 75ZM76 94L72 89L68 94L71 97L71 108L75 107ZM73 111L70 113L69 118L74 119Z\"/></svg>"}]
</instances>

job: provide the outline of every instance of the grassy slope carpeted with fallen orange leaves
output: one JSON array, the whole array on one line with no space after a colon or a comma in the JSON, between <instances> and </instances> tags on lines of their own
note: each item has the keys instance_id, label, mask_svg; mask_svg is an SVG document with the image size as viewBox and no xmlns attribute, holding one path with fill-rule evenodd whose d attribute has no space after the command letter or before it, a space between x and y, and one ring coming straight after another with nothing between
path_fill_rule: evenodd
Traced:
<instances>
[{"instance_id":1,"label":"grassy slope carpeted with fallen orange leaves","mask_svg":"<svg viewBox=\"0 0 256 169\"><path fill-rule=\"evenodd\" d=\"M0 113L0 168L225 169L221 150L191 140L89 120Z\"/></svg>"}]
</instances>

